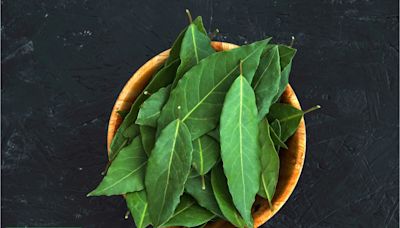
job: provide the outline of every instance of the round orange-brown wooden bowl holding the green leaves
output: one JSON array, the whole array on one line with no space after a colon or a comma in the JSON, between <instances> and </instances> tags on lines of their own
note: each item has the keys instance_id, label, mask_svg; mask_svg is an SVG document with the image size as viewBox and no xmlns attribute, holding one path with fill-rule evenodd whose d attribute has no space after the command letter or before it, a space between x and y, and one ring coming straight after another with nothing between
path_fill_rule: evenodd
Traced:
<instances>
[{"instance_id":1,"label":"round orange-brown wooden bowl holding the green leaves","mask_svg":"<svg viewBox=\"0 0 400 228\"><path fill-rule=\"evenodd\" d=\"M212 42L212 46L216 51L230 50L238 47L237 45L225 42ZM119 110L129 110L133 101L142 92L147 85L151 76L161 67L168 58L169 50L166 50L157 56L150 59L142 67L137 70L126 83L121 93L119 94L114 108L111 112L110 121L108 124L107 148L110 149L111 140L115 132L122 122L122 118L117 114ZM291 104L292 106L301 109L300 103L294 93L292 87L288 85L281 97L282 102ZM299 128L296 133L287 142L288 150L281 150L280 157L280 172L279 181L276 188L275 196L272 201L272 209L268 202L258 197L253 205L254 227L259 227L268 221L275 213L281 209L285 202L289 199L297 181L299 180L301 170L304 164L306 150L306 129L304 119L300 121ZM225 228L233 227L226 221L217 221L208 224L207 227Z\"/></svg>"}]
</instances>

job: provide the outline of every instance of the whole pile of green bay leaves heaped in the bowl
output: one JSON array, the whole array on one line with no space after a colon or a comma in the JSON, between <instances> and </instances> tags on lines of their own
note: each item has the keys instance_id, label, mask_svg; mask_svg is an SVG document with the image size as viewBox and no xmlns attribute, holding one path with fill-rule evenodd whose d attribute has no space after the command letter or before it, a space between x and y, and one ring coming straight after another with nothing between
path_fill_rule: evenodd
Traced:
<instances>
[{"instance_id":1,"label":"whole pile of green bay leaves heaped in the bowl","mask_svg":"<svg viewBox=\"0 0 400 228\"><path fill-rule=\"evenodd\" d=\"M278 152L308 112L279 103L296 50L265 39L216 52L201 17L190 21L119 112L110 166L88 196L125 195L137 227L253 227L255 197L271 205Z\"/></svg>"}]
</instances>

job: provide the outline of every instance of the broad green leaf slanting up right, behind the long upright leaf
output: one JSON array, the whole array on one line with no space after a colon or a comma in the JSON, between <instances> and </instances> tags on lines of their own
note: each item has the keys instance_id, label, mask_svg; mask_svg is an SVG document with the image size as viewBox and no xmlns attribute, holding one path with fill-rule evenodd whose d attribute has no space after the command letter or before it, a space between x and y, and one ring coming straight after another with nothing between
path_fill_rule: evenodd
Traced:
<instances>
[{"instance_id":1,"label":"broad green leaf slanting up right, behind the long upright leaf","mask_svg":"<svg viewBox=\"0 0 400 228\"><path fill-rule=\"evenodd\" d=\"M186 123L193 140L214 129L224 94L239 75L240 61L243 74L251 81L268 41L214 53L186 72L161 111L158 131L175 119Z\"/></svg>"}]
</instances>

